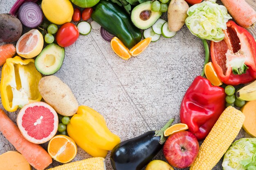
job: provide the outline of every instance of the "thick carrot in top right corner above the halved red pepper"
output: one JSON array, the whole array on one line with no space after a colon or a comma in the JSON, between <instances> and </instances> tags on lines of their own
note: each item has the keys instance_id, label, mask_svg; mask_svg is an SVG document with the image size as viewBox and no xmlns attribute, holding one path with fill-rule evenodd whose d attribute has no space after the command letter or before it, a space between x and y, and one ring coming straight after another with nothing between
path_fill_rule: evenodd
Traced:
<instances>
[{"instance_id":1,"label":"thick carrot in top right corner above the halved red pepper","mask_svg":"<svg viewBox=\"0 0 256 170\"><path fill-rule=\"evenodd\" d=\"M249 28L256 22L256 11L245 0L221 0L238 25Z\"/></svg>"}]
</instances>

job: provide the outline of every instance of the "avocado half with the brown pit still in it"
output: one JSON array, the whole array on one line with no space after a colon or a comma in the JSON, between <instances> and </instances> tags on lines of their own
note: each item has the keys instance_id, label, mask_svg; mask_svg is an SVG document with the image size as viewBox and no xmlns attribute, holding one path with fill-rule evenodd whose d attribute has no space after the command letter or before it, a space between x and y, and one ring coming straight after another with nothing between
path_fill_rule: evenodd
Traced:
<instances>
[{"instance_id":1,"label":"avocado half with the brown pit still in it","mask_svg":"<svg viewBox=\"0 0 256 170\"><path fill-rule=\"evenodd\" d=\"M143 2L137 5L131 13L132 23L142 30L148 29L155 24L162 12L151 11L151 1Z\"/></svg>"}]
</instances>

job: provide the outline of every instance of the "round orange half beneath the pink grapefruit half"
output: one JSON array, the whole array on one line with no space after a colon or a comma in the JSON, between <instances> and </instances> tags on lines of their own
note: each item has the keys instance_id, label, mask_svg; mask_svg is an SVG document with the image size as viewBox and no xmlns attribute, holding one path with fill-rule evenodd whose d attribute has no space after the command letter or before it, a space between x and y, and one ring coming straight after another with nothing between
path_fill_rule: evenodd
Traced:
<instances>
[{"instance_id":1,"label":"round orange half beneath the pink grapefruit half","mask_svg":"<svg viewBox=\"0 0 256 170\"><path fill-rule=\"evenodd\" d=\"M77 153L76 143L66 135L56 135L48 144L48 153L58 162L70 162Z\"/></svg>"}]
</instances>

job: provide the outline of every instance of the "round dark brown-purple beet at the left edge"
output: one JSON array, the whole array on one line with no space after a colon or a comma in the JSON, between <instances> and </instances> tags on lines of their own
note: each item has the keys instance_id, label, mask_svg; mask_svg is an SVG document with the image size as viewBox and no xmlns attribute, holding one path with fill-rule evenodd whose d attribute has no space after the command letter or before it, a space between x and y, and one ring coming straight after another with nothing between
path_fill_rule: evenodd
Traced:
<instances>
[{"instance_id":1,"label":"round dark brown-purple beet at the left edge","mask_svg":"<svg viewBox=\"0 0 256 170\"><path fill-rule=\"evenodd\" d=\"M17 41L22 33L20 20L7 13L0 14L0 43Z\"/></svg>"}]
</instances>

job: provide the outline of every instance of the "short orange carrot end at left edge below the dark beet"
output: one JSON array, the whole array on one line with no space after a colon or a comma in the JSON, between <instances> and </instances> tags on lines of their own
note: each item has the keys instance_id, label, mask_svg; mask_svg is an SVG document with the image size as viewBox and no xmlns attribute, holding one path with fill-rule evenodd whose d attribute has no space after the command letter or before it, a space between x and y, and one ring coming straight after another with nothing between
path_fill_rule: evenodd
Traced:
<instances>
[{"instance_id":1,"label":"short orange carrot end at left edge below the dark beet","mask_svg":"<svg viewBox=\"0 0 256 170\"><path fill-rule=\"evenodd\" d=\"M16 48L13 44L4 44L0 46L0 66L4 65L6 59L13 57L16 54Z\"/></svg>"}]
</instances>

